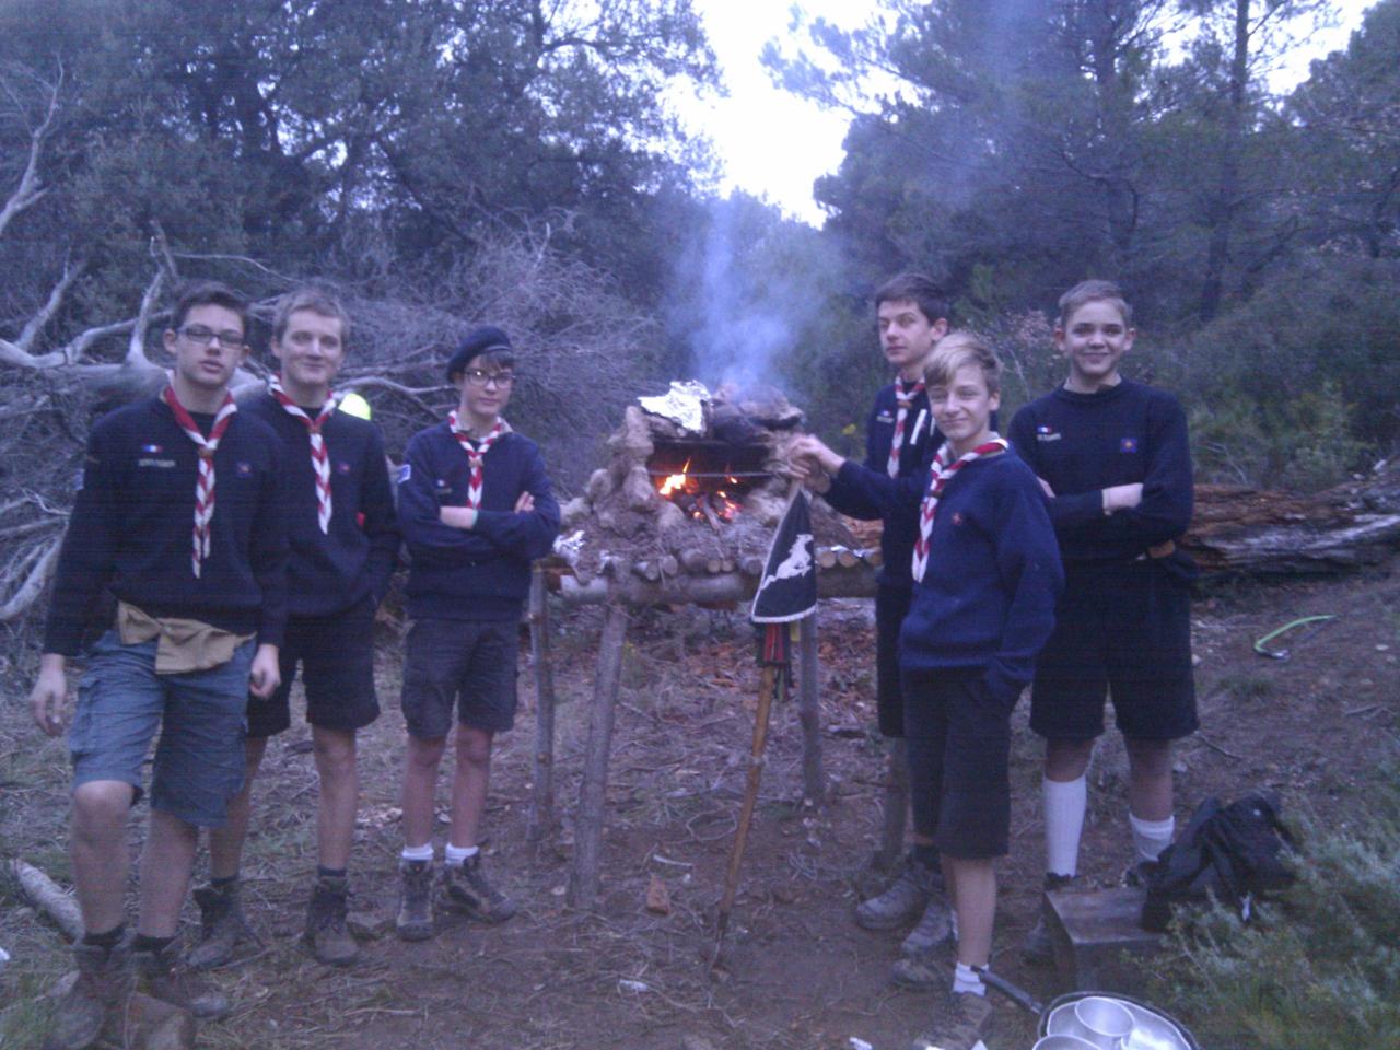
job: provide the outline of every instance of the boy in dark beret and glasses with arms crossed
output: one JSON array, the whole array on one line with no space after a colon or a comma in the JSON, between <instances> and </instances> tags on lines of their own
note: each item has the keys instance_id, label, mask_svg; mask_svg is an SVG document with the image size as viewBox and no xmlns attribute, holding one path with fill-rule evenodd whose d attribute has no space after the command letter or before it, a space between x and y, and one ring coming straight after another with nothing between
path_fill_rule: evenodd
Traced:
<instances>
[{"instance_id":1,"label":"boy in dark beret and glasses with arms crossed","mask_svg":"<svg viewBox=\"0 0 1400 1050\"><path fill-rule=\"evenodd\" d=\"M399 473L399 524L412 559L396 920L405 941L433 935L433 795L454 710L456 769L441 902L484 923L515 914L515 903L486 878L479 830L491 741L515 721L531 561L553 546L559 505L539 447L501 419L514 367L505 332L469 332L447 365L458 406L445 423L413 435Z\"/></svg>"}]
</instances>

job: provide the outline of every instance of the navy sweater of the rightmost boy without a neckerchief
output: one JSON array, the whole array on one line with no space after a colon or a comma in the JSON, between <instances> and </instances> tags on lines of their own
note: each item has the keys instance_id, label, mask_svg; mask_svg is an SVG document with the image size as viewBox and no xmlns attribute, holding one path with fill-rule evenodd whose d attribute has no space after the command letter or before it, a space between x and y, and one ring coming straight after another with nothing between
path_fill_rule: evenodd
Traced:
<instances>
[{"instance_id":1,"label":"navy sweater of the rightmost boy without a neckerchief","mask_svg":"<svg viewBox=\"0 0 1400 1050\"><path fill-rule=\"evenodd\" d=\"M1131 561L1191 522L1186 414L1166 391L1130 379L1098 393L1061 386L1021 409L1009 438L1054 490L1065 561ZM1106 517L1102 490L1138 482L1142 503Z\"/></svg>"}]
</instances>

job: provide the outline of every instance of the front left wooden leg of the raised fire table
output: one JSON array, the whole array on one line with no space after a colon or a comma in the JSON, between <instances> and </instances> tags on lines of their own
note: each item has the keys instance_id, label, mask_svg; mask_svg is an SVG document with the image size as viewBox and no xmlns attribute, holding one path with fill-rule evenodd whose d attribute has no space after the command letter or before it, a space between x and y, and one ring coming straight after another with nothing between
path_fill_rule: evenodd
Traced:
<instances>
[{"instance_id":1,"label":"front left wooden leg of the raised fire table","mask_svg":"<svg viewBox=\"0 0 1400 1050\"><path fill-rule=\"evenodd\" d=\"M610 603L603 620L603 637L598 644L598 673L594 680L594 706L588 713L584 783L574 816L574 862L568 875L568 903L580 909L592 907L598 896L598 862L602 854L603 808L608 798L608 759L612 752L613 715L617 707L622 650L626 641L627 610L619 603Z\"/></svg>"}]
</instances>

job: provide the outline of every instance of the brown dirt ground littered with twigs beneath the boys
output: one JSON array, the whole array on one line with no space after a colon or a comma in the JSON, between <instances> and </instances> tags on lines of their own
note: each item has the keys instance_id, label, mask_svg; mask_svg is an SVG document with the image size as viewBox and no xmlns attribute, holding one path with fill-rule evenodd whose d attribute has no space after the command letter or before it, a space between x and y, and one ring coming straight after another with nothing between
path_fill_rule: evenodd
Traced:
<instances>
[{"instance_id":1,"label":"brown dirt ground littered with twigs beneath the boys","mask_svg":"<svg viewBox=\"0 0 1400 1050\"><path fill-rule=\"evenodd\" d=\"M1177 752L1177 813L1207 794L1271 787L1285 811L1310 806L1345 822L1365 787L1394 767L1400 560L1347 578L1215 585L1194 616L1203 729ZM1250 651L1254 638L1295 617L1338 619L1298 634L1287 661ZM525 841L533 752L533 685L521 676L514 732L498 739L489 811L489 865L522 903L501 927L441 921L437 937L406 945L392 931L365 939L361 962L328 970L298 946L315 855L316 781L298 725L269 749L255 795L245 864L248 910L262 937L217 974L234 1015L203 1029L203 1047L461 1047L482 1050L836 1050L853 1039L878 1050L909 1044L932 997L888 981L902 934L851 921L878 886L869 869L879 830L882 750L872 731L872 622L868 602L823 602L822 736L830 801L801 798L801 734L794 706L776 713L760 804L743 864L725 966L706 960L752 734L757 668L752 629L738 613L704 609L634 616L623 664L595 910L564 903L601 616L556 620L560 699L557 812L546 847ZM1301 633L1299 633L1301 634ZM396 795L403 732L399 645L386 630L378 682L384 717L361 738L364 801L353 907L368 927L392 918L400 846ZM0 666L0 853L69 879L66 755L32 728L31 652ZM1042 995L1049 970L1025 966L1018 946L1039 906L1039 743L1016 711L1012 853L1001 879L994 966ZM1091 813L1081 872L1112 885L1128 861L1124 756L1114 734L1091 770ZM445 801L445 792L440 791ZM139 848L141 820L133 822ZM444 829L445 830L445 829ZM647 910L659 881L669 913ZM0 1047L36 1047L45 991L67 969L62 938L0 876ZM196 921L186 914L186 930ZM1170 1004L1162 1004L1170 1009ZM1190 1018L1183 1018L1187 1023ZM1033 1021L998 1001L991 1050L1029 1047Z\"/></svg>"}]
</instances>

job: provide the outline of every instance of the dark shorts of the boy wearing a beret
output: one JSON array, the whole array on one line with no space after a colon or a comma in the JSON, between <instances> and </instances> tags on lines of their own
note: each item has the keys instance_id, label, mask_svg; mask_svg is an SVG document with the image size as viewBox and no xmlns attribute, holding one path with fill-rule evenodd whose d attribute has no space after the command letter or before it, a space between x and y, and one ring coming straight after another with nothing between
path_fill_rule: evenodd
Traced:
<instances>
[{"instance_id":1,"label":"dark shorts of the boy wearing a beret","mask_svg":"<svg viewBox=\"0 0 1400 1050\"><path fill-rule=\"evenodd\" d=\"M517 620L414 620L403 655L403 721L424 741L447 736L452 708L462 725L504 732L515 725Z\"/></svg>"}]
</instances>

